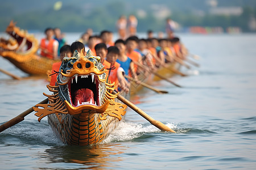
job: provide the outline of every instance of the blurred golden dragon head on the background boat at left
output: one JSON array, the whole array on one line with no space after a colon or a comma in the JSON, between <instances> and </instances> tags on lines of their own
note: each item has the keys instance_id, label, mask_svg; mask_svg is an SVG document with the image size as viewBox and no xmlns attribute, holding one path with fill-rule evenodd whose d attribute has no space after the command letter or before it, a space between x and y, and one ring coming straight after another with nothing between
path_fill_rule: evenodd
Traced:
<instances>
[{"instance_id":1,"label":"blurred golden dragon head on the background boat at left","mask_svg":"<svg viewBox=\"0 0 256 170\"><path fill-rule=\"evenodd\" d=\"M16 27L15 24L11 21L6 28L10 39L0 39L0 56L13 57L18 62L24 62L30 59L30 54L36 53L39 43L34 35Z\"/></svg>"}]
</instances>

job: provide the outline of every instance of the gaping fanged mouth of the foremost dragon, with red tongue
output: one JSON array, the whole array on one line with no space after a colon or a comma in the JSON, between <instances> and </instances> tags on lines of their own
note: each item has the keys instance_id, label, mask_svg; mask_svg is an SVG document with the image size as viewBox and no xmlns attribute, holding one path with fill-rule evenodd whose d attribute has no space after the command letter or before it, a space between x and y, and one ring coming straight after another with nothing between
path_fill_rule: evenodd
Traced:
<instances>
[{"instance_id":1,"label":"gaping fanged mouth of the foremost dragon, with red tongue","mask_svg":"<svg viewBox=\"0 0 256 170\"><path fill-rule=\"evenodd\" d=\"M98 76L75 75L68 82L69 100L73 107L80 105L100 106L100 86Z\"/></svg>"}]
</instances>

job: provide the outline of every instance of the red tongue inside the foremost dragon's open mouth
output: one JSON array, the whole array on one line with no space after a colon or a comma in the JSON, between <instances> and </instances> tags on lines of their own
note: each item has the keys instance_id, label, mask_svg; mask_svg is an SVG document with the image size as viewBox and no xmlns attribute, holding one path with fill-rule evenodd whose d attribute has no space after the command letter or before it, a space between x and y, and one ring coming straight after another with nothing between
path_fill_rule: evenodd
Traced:
<instances>
[{"instance_id":1,"label":"red tongue inside the foremost dragon's open mouth","mask_svg":"<svg viewBox=\"0 0 256 170\"><path fill-rule=\"evenodd\" d=\"M87 104L94 104L94 95L93 91L90 90L89 88L81 88L77 91L75 91L75 100L74 100L74 105L78 106L83 103Z\"/></svg>"}]
</instances>

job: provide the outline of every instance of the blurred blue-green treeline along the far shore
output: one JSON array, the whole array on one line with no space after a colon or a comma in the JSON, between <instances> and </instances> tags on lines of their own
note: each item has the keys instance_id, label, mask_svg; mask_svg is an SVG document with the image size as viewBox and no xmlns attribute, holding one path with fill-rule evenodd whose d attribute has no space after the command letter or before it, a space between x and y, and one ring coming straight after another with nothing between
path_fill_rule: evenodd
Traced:
<instances>
[{"instance_id":1,"label":"blurred blue-green treeline along the far shore","mask_svg":"<svg viewBox=\"0 0 256 170\"><path fill-rule=\"evenodd\" d=\"M216 7L241 7L240 15L211 14ZM46 27L60 27L65 32L94 32L108 29L115 32L115 22L121 15L134 14L138 18L138 32L164 31L165 20L171 17L181 28L240 27L249 32L249 21L256 18L255 0L63 0L31 1L1 0L0 32L10 20L29 31L44 31Z\"/></svg>"}]
</instances>

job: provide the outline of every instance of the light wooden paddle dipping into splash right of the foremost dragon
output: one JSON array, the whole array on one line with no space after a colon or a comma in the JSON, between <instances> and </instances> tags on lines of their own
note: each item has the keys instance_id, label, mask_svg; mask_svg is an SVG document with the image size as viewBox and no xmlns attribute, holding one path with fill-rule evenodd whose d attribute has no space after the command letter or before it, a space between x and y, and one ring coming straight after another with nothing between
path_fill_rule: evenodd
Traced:
<instances>
[{"instance_id":1,"label":"light wooden paddle dipping into splash right of the foremost dragon","mask_svg":"<svg viewBox=\"0 0 256 170\"><path fill-rule=\"evenodd\" d=\"M117 92L113 91L112 94L117 94ZM172 130L171 128L168 128L168 126L164 125L162 122L154 120L154 118L150 117L147 113L143 112L142 109L138 108L135 104L133 104L129 100L125 99L125 97L118 94L117 99L119 99L120 101L122 101L122 103L129 106L135 112L139 113L139 115L144 117L147 121L150 122L150 124L154 125L156 128L163 130L163 131L170 131L172 133L176 133L176 131Z\"/></svg>"}]
</instances>

